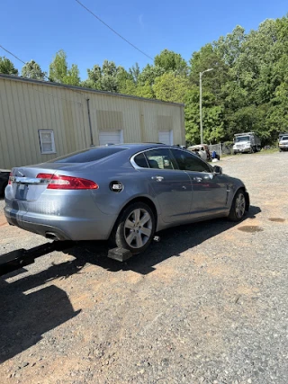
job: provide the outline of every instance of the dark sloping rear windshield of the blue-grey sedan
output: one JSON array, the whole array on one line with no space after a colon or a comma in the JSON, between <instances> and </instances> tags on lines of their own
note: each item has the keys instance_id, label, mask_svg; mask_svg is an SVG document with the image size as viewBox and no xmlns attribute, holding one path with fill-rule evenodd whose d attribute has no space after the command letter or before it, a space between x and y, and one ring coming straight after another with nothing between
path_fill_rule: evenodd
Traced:
<instances>
[{"instance_id":1,"label":"dark sloping rear windshield of the blue-grey sedan","mask_svg":"<svg viewBox=\"0 0 288 384\"><path fill-rule=\"evenodd\" d=\"M126 148L120 147L95 147L74 152L65 156L50 160L49 163L90 163L100 160L107 156L112 156L117 152L124 151Z\"/></svg>"}]
</instances>

